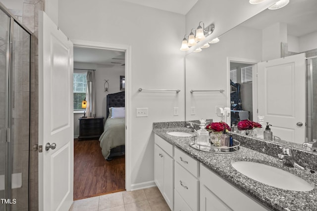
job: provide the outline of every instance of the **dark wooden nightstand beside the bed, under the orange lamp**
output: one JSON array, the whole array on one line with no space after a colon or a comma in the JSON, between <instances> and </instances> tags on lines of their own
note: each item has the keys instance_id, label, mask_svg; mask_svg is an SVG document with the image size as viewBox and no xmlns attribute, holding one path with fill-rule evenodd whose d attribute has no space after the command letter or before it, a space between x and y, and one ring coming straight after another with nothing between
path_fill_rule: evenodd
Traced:
<instances>
[{"instance_id":1,"label":"dark wooden nightstand beside the bed, under the orange lamp","mask_svg":"<svg viewBox=\"0 0 317 211\"><path fill-rule=\"evenodd\" d=\"M78 140L99 139L104 132L104 117L79 118Z\"/></svg>"}]
</instances>

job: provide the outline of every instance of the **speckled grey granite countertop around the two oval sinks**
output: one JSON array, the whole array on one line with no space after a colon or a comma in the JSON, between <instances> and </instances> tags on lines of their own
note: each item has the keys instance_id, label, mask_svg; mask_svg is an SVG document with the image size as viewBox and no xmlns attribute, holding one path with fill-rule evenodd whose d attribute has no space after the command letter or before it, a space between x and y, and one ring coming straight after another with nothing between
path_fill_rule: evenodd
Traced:
<instances>
[{"instance_id":1,"label":"speckled grey granite countertop around the two oval sinks","mask_svg":"<svg viewBox=\"0 0 317 211\"><path fill-rule=\"evenodd\" d=\"M178 137L166 133L171 131L193 133L186 127L155 128L153 131L167 142L186 152L188 155L220 175L223 179L272 210L317 211L317 172L311 173L310 169L300 170L285 167L279 162L278 158L242 146L238 152L229 154L199 151L189 146L190 137ZM315 188L311 191L299 192L266 185L253 180L234 169L231 166L231 163L235 161L252 161L283 169L303 178L310 184L313 184Z\"/></svg>"}]
</instances>

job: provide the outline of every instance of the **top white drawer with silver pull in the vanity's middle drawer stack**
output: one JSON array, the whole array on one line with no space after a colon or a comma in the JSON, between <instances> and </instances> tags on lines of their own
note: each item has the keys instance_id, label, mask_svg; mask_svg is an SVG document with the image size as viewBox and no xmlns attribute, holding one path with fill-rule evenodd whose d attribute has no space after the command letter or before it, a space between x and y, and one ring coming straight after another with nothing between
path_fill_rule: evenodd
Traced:
<instances>
[{"instance_id":1,"label":"top white drawer with silver pull in the vanity's middle drawer stack","mask_svg":"<svg viewBox=\"0 0 317 211\"><path fill-rule=\"evenodd\" d=\"M198 177L199 162L197 160L193 159L177 147L174 149L174 154L174 160L177 161L177 163L191 172L194 176Z\"/></svg>"}]
</instances>

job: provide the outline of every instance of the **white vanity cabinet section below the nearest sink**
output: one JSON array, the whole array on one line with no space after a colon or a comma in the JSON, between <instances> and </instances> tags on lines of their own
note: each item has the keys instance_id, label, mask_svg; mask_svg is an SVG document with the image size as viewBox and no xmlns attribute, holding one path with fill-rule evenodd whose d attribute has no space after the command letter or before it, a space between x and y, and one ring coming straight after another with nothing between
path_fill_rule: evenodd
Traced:
<instances>
[{"instance_id":1,"label":"white vanity cabinet section below the nearest sink","mask_svg":"<svg viewBox=\"0 0 317 211\"><path fill-rule=\"evenodd\" d=\"M200 211L269 211L200 164Z\"/></svg>"}]
</instances>

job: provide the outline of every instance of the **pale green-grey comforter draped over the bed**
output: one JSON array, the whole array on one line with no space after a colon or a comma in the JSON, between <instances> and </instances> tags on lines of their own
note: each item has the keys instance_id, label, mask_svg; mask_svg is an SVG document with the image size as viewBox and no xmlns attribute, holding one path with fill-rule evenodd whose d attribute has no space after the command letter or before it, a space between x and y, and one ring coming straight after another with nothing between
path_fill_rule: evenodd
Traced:
<instances>
[{"instance_id":1,"label":"pale green-grey comforter draped over the bed","mask_svg":"<svg viewBox=\"0 0 317 211\"><path fill-rule=\"evenodd\" d=\"M125 144L125 118L112 119L109 115L99 141L103 156L107 159L112 148Z\"/></svg>"}]
</instances>

